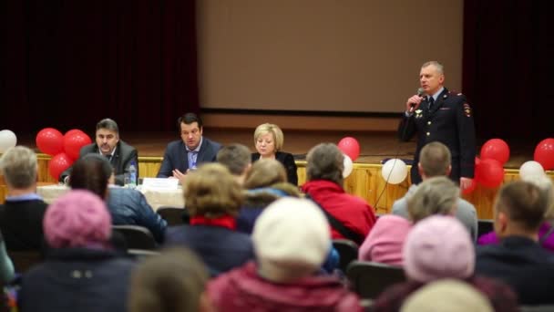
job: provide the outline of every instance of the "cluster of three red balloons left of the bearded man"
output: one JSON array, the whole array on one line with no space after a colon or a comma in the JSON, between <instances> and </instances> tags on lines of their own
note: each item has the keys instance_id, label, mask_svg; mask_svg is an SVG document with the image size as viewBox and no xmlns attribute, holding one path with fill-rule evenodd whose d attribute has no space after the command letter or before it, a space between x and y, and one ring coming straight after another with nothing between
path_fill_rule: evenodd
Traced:
<instances>
[{"instance_id":1,"label":"cluster of three red balloons left of the bearded man","mask_svg":"<svg viewBox=\"0 0 554 312\"><path fill-rule=\"evenodd\" d=\"M77 129L64 135L54 128L45 128L36 134L38 150L53 156L48 163L48 172L56 180L77 160L81 148L91 142L85 132Z\"/></svg>"}]
</instances>

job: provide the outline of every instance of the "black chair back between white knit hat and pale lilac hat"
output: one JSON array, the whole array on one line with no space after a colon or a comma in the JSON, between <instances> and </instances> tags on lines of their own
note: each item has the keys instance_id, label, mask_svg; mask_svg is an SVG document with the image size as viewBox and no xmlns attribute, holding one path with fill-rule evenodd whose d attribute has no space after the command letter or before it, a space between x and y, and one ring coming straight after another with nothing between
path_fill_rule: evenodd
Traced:
<instances>
[{"instance_id":1,"label":"black chair back between white knit hat and pale lilac hat","mask_svg":"<svg viewBox=\"0 0 554 312\"><path fill-rule=\"evenodd\" d=\"M352 262L346 276L354 292L364 299L375 299L388 286L405 282L402 267L367 261Z\"/></svg>"}]
</instances>

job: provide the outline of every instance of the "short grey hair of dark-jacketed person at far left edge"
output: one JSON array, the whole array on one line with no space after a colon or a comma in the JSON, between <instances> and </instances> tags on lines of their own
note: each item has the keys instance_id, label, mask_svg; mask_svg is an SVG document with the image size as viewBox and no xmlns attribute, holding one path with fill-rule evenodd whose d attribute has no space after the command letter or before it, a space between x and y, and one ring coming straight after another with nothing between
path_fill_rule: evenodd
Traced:
<instances>
[{"instance_id":1,"label":"short grey hair of dark-jacketed person at far left edge","mask_svg":"<svg viewBox=\"0 0 554 312\"><path fill-rule=\"evenodd\" d=\"M36 153L25 146L9 148L0 159L5 182L15 189L26 189L36 183Z\"/></svg>"}]
</instances>

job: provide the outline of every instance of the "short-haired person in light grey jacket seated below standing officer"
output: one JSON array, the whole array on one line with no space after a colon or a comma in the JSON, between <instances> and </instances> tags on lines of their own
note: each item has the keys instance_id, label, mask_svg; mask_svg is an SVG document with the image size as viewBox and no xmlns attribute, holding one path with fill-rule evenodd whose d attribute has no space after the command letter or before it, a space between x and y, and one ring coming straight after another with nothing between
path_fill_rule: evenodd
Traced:
<instances>
[{"instance_id":1,"label":"short-haired person in light grey jacket seated below standing officer","mask_svg":"<svg viewBox=\"0 0 554 312\"><path fill-rule=\"evenodd\" d=\"M431 177L447 177L452 171L450 163L452 157L445 144L434 141L426 144L419 153L417 169L423 181ZM407 199L417 190L418 184L412 184L405 196L393 204L392 213L408 219ZM457 199L457 219L466 226L474 242L477 240L477 212L473 204L466 200Z\"/></svg>"}]
</instances>

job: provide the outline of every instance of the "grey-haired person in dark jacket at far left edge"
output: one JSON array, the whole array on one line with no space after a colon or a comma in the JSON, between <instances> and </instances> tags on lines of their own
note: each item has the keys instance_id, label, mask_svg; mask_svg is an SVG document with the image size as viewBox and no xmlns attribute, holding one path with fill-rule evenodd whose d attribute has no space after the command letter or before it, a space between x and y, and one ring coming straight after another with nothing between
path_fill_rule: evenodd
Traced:
<instances>
[{"instance_id":1,"label":"grey-haired person in dark jacket at far left edge","mask_svg":"<svg viewBox=\"0 0 554 312\"><path fill-rule=\"evenodd\" d=\"M47 204L36 194L36 154L24 147L10 148L0 159L7 197L0 204L0 228L7 250L40 250L42 221Z\"/></svg>"}]
</instances>

